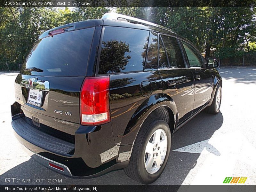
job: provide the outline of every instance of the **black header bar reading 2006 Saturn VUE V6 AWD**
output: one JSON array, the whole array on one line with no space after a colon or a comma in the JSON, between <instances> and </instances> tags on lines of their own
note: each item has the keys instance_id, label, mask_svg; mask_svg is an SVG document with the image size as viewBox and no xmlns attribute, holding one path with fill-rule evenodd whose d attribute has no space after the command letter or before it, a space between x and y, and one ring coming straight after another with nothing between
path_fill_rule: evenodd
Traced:
<instances>
[{"instance_id":1,"label":"black header bar reading 2006 Saturn VUE V6 AWD","mask_svg":"<svg viewBox=\"0 0 256 192\"><path fill-rule=\"evenodd\" d=\"M256 0L2 0L0 7L255 7Z\"/></svg>"}]
</instances>

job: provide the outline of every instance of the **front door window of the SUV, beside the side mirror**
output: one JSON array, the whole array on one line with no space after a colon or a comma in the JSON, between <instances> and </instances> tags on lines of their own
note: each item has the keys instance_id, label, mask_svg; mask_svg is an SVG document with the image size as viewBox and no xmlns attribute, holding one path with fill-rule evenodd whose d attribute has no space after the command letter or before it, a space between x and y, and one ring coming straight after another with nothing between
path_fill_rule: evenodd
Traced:
<instances>
[{"instance_id":1,"label":"front door window of the SUV, beside the side mirror","mask_svg":"<svg viewBox=\"0 0 256 192\"><path fill-rule=\"evenodd\" d=\"M204 67L203 56L190 44L182 41L190 67Z\"/></svg>"}]
</instances>

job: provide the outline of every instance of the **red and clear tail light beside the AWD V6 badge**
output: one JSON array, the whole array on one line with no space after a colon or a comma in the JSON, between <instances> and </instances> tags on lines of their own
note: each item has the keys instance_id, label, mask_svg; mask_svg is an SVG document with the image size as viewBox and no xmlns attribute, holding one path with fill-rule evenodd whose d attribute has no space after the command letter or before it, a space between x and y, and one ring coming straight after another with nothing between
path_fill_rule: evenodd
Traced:
<instances>
[{"instance_id":1,"label":"red and clear tail light beside the AWD V6 badge","mask_svg":"<svg viewBox=\"0 0 256 192\"><path fill-rule=\"evenodd\" d=\"M109 76L86 77L80 93L81 124L98 125L110 121Z\"/></svg>"}]
</instances>

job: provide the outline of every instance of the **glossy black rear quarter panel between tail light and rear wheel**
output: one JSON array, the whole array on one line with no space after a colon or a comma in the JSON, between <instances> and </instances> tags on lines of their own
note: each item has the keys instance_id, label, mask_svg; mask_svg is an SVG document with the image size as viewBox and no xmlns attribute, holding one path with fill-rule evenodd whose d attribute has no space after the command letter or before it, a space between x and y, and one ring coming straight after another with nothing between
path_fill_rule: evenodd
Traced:
<instances>
[{"instance_id":1,"label":"glossy black rear quarter panel between tail light and rear wheel","mask_svg":"<svg viewBox=\"0 0 256 192\"><path fill-rule=\"evenodd\" d=\"M152 94L141 94L143 81L151 82ZM117 145L133 144L139 130L137 125L143 121L146 111L154 104L165 102L161 87L158 71L110 75L110 116Z\"/></svg>"}]
</instances>

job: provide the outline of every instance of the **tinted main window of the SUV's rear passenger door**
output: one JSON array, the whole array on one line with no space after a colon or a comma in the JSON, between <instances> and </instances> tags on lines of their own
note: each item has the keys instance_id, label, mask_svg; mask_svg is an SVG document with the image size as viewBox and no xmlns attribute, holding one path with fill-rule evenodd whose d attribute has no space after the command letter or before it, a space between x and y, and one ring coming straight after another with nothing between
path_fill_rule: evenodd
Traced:
<instances>
[{"instance_id":1,"label":"tinted main window of the SUV's rear passenger door","mask_svg":"<svg viewBox=\"0 0 256 192\"><path fill-rule=\"evenodd\" d=\"M185 68L177 38L161 35L171 68Z\"/></svg>"}]
</instances>

